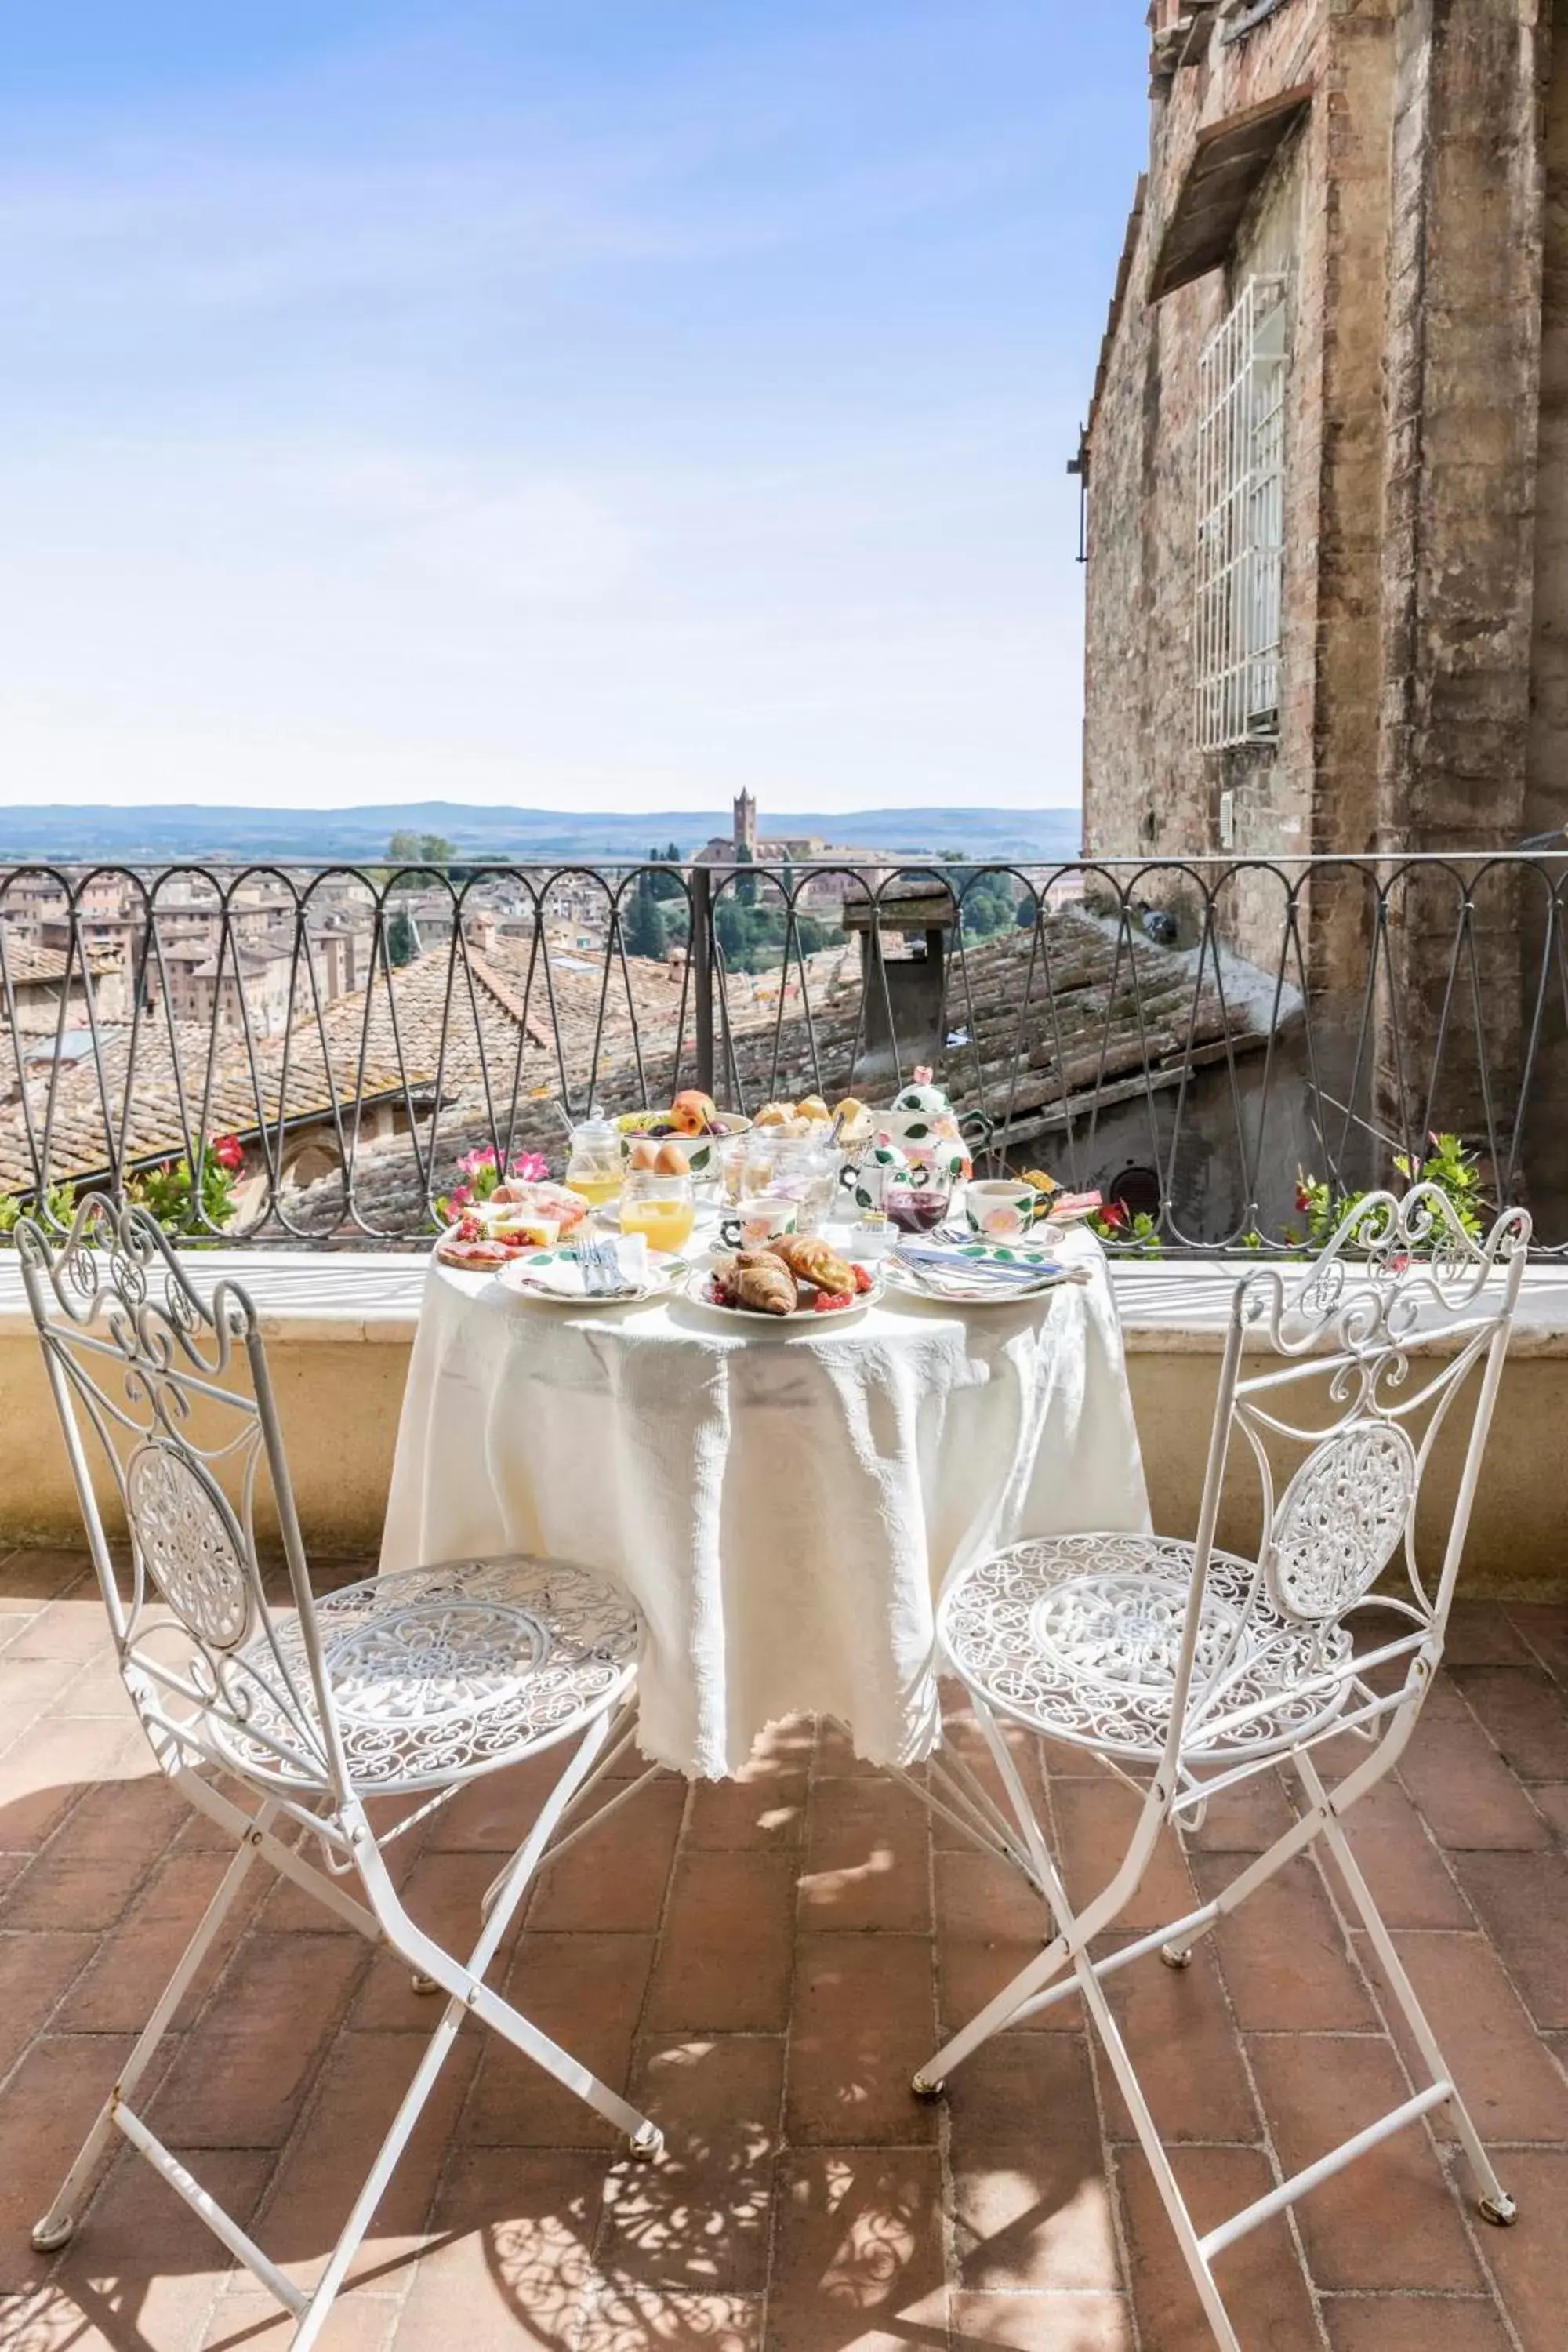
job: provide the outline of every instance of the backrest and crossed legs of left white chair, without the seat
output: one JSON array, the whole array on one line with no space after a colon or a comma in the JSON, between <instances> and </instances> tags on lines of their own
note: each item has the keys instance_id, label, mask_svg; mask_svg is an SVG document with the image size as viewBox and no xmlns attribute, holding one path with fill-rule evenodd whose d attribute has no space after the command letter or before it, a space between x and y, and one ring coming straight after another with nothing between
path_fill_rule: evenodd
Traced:
<instances>
[{"instance_id":1,"label":"backrest and crossed legs of left white chair, without the seat","mask_svg":"<svg viewBox=\"0 0 1568 2352\"><path fill-rule=\"evenodd\" d=\"M49 2211L35 2225L33 2244L42 2253L49 2253L75 2234L118 2133L200 2213L214 2237L273 2291L284 2310L296 2314L299 2326L292 2347L294 2352L308 2352L327 2324L348 2265L364 2239L393 2169L409 2143L468 2013L524 2051L545 2074L592 2107L595 2114L604 2117L616 2131L625 2133L635 2157L651 2159L663 2147L661 2131L637 2107L628 2105L609 2084L590 2074L585 2065L484 1980L538 1872L574 1846L578 1837L595 1830L611 1811L618 1811L654 1771L654 1766L646 1766L614 1795L604 1795L607 1773L623 1757L635 1733L635 1665L625 1665L607 1677L602 1693L588 1703L592 1712L578 1708L576 1715L562 1722L559 1731L545 1731L534 1738L520 1736L517 1748L501 1759L522 1762L552 1745L569 1748L569 1759L545 1797L534 1828L482 1898L477 1943L465 1957L449 1952L404 1910L388 1870L386 1846L414 1828L416 1820L423 1820L435 1806L449 1802L461 1788L468 1788L477 1773L473 1766L440 1769L435 1778L425 1778L423 1783L397 1785L393 1780L383 1795L414 1795L416 1806L381 1837L371 1828L364 1795L357 1790L346 1764L336 1703L315 1625L282 1432L252 1301L235 1284L219 1284L214 1301L202 1301L153 1221L143 1211L115 1209L103 1200L82 1204L73 1232L59 1254L49 1249L47 1237L31 1221L19 1225L19 1249L75 1475L87 1541L132 1703L160 1771L200 1813L219 1823L237 1846L174 1976L153 2006L120 2079L99 2110L75 2164L66 2173ZM162 1301L153 1294L155 1282L165 1284ZM108 1319L108 1338L101 1338L92 1329L101 1315ZM235 1392L223 1381L223 1374L240 1352L249 1367L249 1392ZM139 1416L115 1395L113 1381L118 1378L122 1378L125 1397L132 1399ZM134 1581L129 1602L120 1590L110 1557L87 1449L75 1418L78 1402L103 1439L132 1524ZM200 1444L195 1435L188 1435L193 1404L221 1411L223 1416L237 1416L242 1435L237 1439L226 1437L221 1444ZM120 1449L115 1446L118 1437L122 1439ZM216 1512L212 1524L221 1526L223 1541L230 1545L219 1566L233 1583L219 1590L216 1599L207 1602L202 1595L195 1595L181 1606L186 1595L181 1590L162 1590L160 1585L162 1599L174 1609L179 1628L190 1642L190 1653L197 1661L195 1668L176 1670L158 1658L153 1653L153 1635L146 1632L146 1623L150 1621L143 1592L143 1536L136 1524L134 1482L122 1461L127 1444L132 1463L139 1454L146 1456L150 1446L158 1449L160 1465L174 1454L181 1461L188 1456L195 1468L181 1472L190 1482L181 1491L193 1491L202 1508L207 1508L212 1491L212 1510ZM209 1479L202 1484L207 1463L233 1463L235 1458L242 1468L244 1522L226 1510L216 1489L209 1489ZM256 1621L270 1628L252 1526L254 1484L261 1465L266 1465L273 1482L289 1583L299 1609L308 1689L315 1698L315 1708L303 1703L299 1670L289 1672L284 1653L273 1646L273 1661L282 1677L280 1689L287 1700L280 1729L273 1736L247 1722L244 1705L233 1696L233 1642L214 1649L209 1625L214 1609L221 1613L226 1604L233 1604L235 1592L244 1588L252 1592L249 1606L254 1606ZM165 1630L165 1621L155 1630ZM209 1717L226 1724L230 1733L252 1731L270 1750L270 1776L261 1771L252 1780L240 1771L233 1755L212 1738ZM310 1778L315 1778L315 1788ZM228 1792L230 1788L249 1797L254 1809L235 1802ZM599 1802L581 1813L578 1809L595 1792ZM376 1792L371 1790L371 1795ZM280 1828L292 1828L296 1844L284 1842ZM557 1837L557 1832L564 1835ZM306 1860L301 1846L310 1842L320 1846L324 1867ZM376 2161L313 2288L299 2286L263 2253L249 2232L223 2211L219 2199L165 2147L134 2105L136 2091L169 2032L179 2004L259 1860L310 1893L339 1919L346 1919L369 1943L395 1952L414 1971L416 1990L447 1997L425 2053L376 2152ZM346 1882L357 1884L362 1900L348 1891Z\"/></svg>"}]
</instances>

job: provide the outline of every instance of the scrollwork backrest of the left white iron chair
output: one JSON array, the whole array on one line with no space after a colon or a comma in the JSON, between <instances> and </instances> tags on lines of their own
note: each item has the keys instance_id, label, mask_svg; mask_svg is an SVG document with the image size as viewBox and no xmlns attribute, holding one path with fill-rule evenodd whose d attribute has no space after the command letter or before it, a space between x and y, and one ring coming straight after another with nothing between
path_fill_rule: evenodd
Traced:
<instances>
[{"instance_id":1,"label":"scrollwork backrest of the left white iron chair","mask_svg":"<svg viewBox=\"0 0 1568 2352\"><path fill-rule=\"evenodd\" d=\"M249 1296L202 1296L146 1209L82 1202L56 1247L16 1249L59 1406L120 1672L165 1769L247 1757L259 1776L343 1790L310 1578ZM122 1505L110 1548L94 1456ZM256 1508L270 1491L294 1611L268 1604Z\"/></svg>"}]
</instances>

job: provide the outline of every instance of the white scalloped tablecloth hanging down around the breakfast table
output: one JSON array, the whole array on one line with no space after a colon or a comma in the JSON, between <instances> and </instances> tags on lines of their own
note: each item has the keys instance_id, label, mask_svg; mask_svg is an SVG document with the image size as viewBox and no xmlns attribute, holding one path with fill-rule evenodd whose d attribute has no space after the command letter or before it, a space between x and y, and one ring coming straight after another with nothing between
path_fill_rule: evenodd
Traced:
<instances>
[{"instance_id":1,"label":"white scalloped tablecloth hanging down around the breakfast table","mask_svg":"<svg viewBox=\"0 0 1568 2352\"><path fill-rule=\"evenodd\" d=\"M806 1710L907 1762L936 1736L950 1569L1150 1524L1105 1261L1086 1232L1063 1256L1093 1282L823 1331L541 1305L433 1261L381 1566L522 1550L621 1578L649 1628L639 1740L682 1773L738 1771Z\"/></svg>"}]
</instances>

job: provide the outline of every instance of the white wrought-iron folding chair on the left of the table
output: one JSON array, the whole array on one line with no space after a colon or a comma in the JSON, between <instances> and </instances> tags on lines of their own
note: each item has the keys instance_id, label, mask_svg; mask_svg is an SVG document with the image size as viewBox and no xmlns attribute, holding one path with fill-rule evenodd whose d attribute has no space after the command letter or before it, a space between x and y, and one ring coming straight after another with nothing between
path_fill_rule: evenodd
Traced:
<instances>
[{"instance_id":1,"label":"white wrought-iron folding chair on the left of the table","mask_svg":"<svg viewBox=\"0 0 1568 2352\"><path fill-rule=\"evenodd\" d=\"M632 2154L663 2145L644 2114L484 1983L543 1863L642 1785L637 1776L602 1790L635 1729L639 1616L602 1576L527 1557L442 1562L317 1599L247 1294L219 1279L202 1298L146 1211L96 1197L59 1249L31 1221L16 1244L125 1686L160 1769L240 1849L33 2244L66 2244L122 2133L296 2314L292 2343L306 2352L468 2011L623 2131ZM125 1508L127 1566L110 1555L87 1432L101 1439ZM266 1484L289 1611L268 1604L256 1552ZM447 1952L404 1910L386 1849L468 1780L557 1745L569 1762L489 1886L473 1950ZM599 1802L557 1837L592 1790ZM381 1828L367 1813L376 1799L397 1799ZM313 1846L320 1860L308 1858ZM400 1955L421 1990L447 1994L313 2291L247 2237L132 2105L256 1860Z\"/></svg>"}]
</instances>

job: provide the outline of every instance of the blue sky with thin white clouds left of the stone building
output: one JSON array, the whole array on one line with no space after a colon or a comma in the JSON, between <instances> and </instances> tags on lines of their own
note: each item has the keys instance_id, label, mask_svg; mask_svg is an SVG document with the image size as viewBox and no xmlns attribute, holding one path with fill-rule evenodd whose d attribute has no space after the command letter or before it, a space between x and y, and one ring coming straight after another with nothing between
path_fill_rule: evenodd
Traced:
<instances>
[{"instance_id":1,"label":"blue sky with thin white clouds left of the stone building","mask_svg":"<svg viewBox=\"0 0 1568 2352\"><path fill-rule=\"evenodd\" d=\"M0 19L0 797L1077 800L1143 0Z\"/></svg>"}]
</instances>

